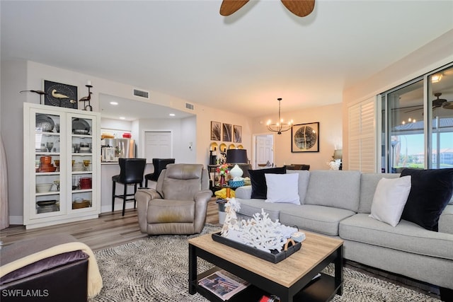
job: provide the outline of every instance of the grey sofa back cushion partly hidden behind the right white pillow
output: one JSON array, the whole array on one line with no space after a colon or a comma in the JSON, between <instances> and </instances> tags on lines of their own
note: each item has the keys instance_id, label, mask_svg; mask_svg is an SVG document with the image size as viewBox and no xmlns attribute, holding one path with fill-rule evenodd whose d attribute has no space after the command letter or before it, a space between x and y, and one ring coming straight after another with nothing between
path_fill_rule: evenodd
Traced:
<instances>
[{"instance_id":1,"label":"grey sofa back cushion partly hidden behind the right white pillow","mask_svg":"<svg viewBox=\"0 0 453 302\"><path fill-rule=\"evenodd\" d=\"M399 178L399 173L362 173L360 176L360 203L358 213L371 213L371 204L377 183L382 178Z\"/></svg>"}]
</instances>

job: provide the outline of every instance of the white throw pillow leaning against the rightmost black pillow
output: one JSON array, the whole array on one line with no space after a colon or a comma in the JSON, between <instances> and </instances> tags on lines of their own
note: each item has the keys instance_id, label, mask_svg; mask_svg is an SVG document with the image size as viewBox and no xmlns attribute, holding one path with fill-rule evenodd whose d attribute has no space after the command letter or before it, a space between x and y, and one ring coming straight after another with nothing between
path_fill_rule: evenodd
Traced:
<instances>
[{"instance_id":1,"label":"white throw pillow leaning against the rightmost black pillow","mask_svg":"<svg viewBox=\"0 0 453 302\"><path fill-rule=\"evenodd\" d=\"M411 192L411 175L402 178L382 178L377 183L370 217L396 226Z\"/></svg>"}]
</instances>

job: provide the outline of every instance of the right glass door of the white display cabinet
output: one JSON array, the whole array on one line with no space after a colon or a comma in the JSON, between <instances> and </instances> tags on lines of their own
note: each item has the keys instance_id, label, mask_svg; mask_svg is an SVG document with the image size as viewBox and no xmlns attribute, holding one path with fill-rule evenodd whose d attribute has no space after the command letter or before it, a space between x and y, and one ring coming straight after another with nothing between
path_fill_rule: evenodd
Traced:
<instances>
[{"instance_id":1,"label":"right glass door of the white display cabinet","mask_svg":"<svg viewBox=\"0 0 453 302\"><path fill-rule=\"evenodd\" d=\"M71 207L83 211L93 206L93 127L96 122L84 115L71 115Z\"/></svg>"}]
</instances>

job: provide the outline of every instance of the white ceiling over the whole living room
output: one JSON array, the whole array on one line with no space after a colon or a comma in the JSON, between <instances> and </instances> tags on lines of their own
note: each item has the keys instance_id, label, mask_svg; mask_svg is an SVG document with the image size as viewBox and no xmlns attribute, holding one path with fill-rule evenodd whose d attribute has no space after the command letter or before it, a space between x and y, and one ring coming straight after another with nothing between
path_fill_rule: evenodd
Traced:
<instances>
[{"instance_id":1,"label":"white ceiling over the whole living room","mask_svg":"<svg viewBox=\"0 0 453 302\"><path fill-rule=\"evenodd\" d=\"M342 91L453 29L453 1L1 1L1 59L129 83L251 117ZM93 83L96 89L96 83ZM37 88L28 88L37 89Z\"/></svg>"}]
</instances>

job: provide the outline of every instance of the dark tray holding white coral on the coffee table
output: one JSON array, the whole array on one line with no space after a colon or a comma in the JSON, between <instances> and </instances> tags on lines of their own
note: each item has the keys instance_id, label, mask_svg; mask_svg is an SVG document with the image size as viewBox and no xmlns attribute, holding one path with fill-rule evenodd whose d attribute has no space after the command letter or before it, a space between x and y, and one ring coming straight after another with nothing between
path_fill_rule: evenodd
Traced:
<instances>
[{"instance_id":1,"label":"dark tray holding white coral on the coffee table","mask_svg":"<svg viewBox=\"0 0 453 302\"><path fill-rule=\"evenodd\" d=\"M231 248L236 248L237 250L241 250L242 252L246 252L250 255L273 263L278 263L282 260L285 260L287 257L294 254L294 252L297 252L302 247L302 243L295 243L294 245L288 246L287 250L282 250L281 252L278 252L277 250L265 252L263 250L258 250L258 248L253 248L249 245L245 245L243 243L239 243L237 241L225 238L220 235L220 232L213 233L212 240L217 241L218 243L223 243L224 245L228 245Z\"/></svg>"}]
</instances>

